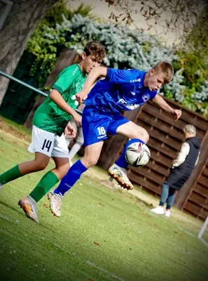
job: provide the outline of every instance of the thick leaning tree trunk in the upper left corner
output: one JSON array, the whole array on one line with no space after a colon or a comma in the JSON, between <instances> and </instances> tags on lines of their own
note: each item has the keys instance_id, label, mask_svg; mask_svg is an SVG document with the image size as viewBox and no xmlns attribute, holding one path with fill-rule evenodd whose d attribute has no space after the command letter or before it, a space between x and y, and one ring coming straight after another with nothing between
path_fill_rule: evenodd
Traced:
<instances>
[{"instance_id":1,"label":"thick leaning tree trunk in the upper left corner","mask_svg":"<svg viewBox=\"0 0 208 281\"><path fill-rule=\"evenodd\" d=\"M0 32L1 70L13 74L34 28L57 0L13 0L13 6ZM0 77L0 105L9 80Z\"/></svg>"}]
</instances>

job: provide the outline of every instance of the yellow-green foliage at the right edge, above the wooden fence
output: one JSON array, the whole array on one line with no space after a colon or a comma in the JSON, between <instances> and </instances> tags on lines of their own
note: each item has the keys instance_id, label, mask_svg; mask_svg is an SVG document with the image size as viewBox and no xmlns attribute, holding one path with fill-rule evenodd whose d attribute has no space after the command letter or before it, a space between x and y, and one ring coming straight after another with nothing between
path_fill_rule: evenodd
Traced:
<instances>
[{"instance_id":1,"label":"yellow-green foliage at the right edge, above the wooden fence","mask_svg":"<svg viewBox=\"0 0 208 281\"><path fill-rule=\"evenodd\" d=\"M186 49L175 52L178 59L173 62L174 70L182 70L183 77L176 86L178 93L174 95L174 91L169 91L167 86L164 94L168 98L172 96L172 99L188 109L208 117L208 6L206 7L190 33ZM181 86L184 86L183 89L180 89Z\"/></svg>"}]
</instances>

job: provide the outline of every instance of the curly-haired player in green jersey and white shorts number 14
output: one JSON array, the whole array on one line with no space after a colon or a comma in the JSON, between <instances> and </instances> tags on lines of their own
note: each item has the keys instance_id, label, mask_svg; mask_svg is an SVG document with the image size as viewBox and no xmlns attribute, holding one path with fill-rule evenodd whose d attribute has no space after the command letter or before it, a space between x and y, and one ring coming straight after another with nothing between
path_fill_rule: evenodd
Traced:
<instances>
[{"instance_id":1,"label":"curly-haired player in green jersey and white shorts number 14","mask_svg":"<svg viewBox=\"0 0 208 281\"><path fill-rule=\"evenodd\" d=\"M102 63L105 56L104 46L98 41L90 41L82 53L81 63L66 67L57 77L50 95L36 110L32 120L32 143L29 152L35 152L34 160L23 162L0 175L0 189L10 181L46 168L53 157L55 168L48 171L34 190L20 201L25 214L39 223L36 202L39 202L69 170L69 151L64 134L74 137L73 117L77 126L81 126L81 115L75 111L78 107L76 93L81 91L88 73Z\"/></svg>"}]
</instances>

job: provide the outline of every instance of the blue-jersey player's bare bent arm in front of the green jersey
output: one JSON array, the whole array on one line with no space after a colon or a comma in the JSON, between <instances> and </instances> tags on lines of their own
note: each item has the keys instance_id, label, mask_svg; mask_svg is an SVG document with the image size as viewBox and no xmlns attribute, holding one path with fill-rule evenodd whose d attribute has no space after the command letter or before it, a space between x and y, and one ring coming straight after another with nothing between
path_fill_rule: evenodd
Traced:
<instances>
[{"instance_id":1,"label":"blue-jersey player's bare bent arm in front of the green jersey","mask_svg":"<svg viewBox=\"0 0 208 281\"><path fill-rule=\"evenodd\" d=\"M107 74L107 68L106 67L94 67L90 74L88 75L88 79L85 81L85 85L83 86L83 89L76 94L76 100L78 100L79 103L83 103L83 100L85 100L88 97L88 93L90 93L90 90L95 86L98 79L105 78Z\"/></svg>"}]
</instances>

